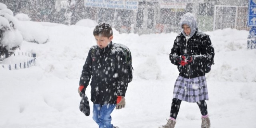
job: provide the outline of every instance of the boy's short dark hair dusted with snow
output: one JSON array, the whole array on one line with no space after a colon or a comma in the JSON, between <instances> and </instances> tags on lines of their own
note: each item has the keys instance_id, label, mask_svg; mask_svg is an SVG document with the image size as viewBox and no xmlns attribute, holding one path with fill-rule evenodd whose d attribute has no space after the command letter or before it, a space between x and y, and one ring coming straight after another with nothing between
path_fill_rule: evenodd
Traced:
<instances>
[{"instance_id":1,"label":"boy's short dark hair dusted with snow","mask_svg":"<svg viewBox=\"0 0 256 128\"><path fill-rule=\"evenodd\" d=\"M100 23L93 30L93 36L104 36L109 38L112 35L113 35L112 28L107 23Z\"/></svg>"}]
</instances>

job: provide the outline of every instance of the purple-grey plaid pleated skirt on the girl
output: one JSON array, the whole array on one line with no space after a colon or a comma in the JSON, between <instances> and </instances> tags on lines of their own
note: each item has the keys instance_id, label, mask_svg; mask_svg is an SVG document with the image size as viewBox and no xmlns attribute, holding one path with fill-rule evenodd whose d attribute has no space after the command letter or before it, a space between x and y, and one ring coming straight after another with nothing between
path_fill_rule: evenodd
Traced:
<instances>
[{"instance_id":1,"label":"purple-grey plaid pleated skirt on the girl","mask_svg":"<svg viewBox=\"0 0 256 128\"><path fill-rule=\"evenodd\" d=\"M173 89L173 98L187 102L209 100L206 77L188 79L178 76Z\"/></svg>"}]
</instances>

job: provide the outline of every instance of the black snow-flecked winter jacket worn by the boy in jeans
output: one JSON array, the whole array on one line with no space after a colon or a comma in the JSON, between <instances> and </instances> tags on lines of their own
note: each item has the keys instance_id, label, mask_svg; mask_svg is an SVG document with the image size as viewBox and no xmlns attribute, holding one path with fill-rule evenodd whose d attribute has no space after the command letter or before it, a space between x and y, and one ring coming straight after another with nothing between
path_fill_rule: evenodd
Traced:
<instances>
[{"instance_id":1,"label":"black snow-flecked winter jacket worn by the boy in jeans","mask_svg":"<svg viewBox=\"0 0 256 128\"><path fill-rule=\"evenodd\" d=\"M91 101L94 104L116 104L118 95L125 96L128 86L125 54L116 43L100 49L90 48L79 85L88 86L92 76Z\"/></svg>"}]
</instances>

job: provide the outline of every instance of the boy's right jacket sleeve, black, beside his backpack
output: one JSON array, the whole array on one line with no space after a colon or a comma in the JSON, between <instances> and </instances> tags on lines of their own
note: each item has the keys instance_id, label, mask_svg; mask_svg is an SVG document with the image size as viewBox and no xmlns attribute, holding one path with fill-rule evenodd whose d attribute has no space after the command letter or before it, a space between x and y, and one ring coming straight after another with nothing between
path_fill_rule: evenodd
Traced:
<instances>
[{"instance_id":1,"label":"boy's right jacket sleeve, black, beside his backpack","mask_svg":"<svg viewBox=\"0 0 256 128\"><path fill-rule=\"evenodd\" d=\"M119 52L116 57L116 85L117 95L125 96L128 87L128 71L126 67L125 54Z\"/></svg>"}]
</instances>

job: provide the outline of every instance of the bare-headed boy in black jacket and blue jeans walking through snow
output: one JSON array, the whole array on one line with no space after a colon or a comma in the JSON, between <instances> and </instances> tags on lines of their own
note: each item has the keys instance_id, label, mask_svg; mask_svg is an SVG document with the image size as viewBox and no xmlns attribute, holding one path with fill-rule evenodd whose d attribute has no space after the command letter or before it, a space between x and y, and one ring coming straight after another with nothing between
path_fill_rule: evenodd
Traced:
<instances>
[{"instance_id":1,"label":"bare-headed boy in black jacket and blue jeans walking through snow","mask_svg":"<svg viewBox=\"0 0 256 128\"><path fill-rule=\"evenodd\" d=\"M97 25L93 35L97 45L90 48L83 66L78 92L80 96L85 95L85 89L92 76L90 85L93 120L99 128L118 128L111 124L110 114L115 107L125 107L128 86L125 53L118 44L112 43L113 32L109 24Z\"/></svg>"}]
</instances>

